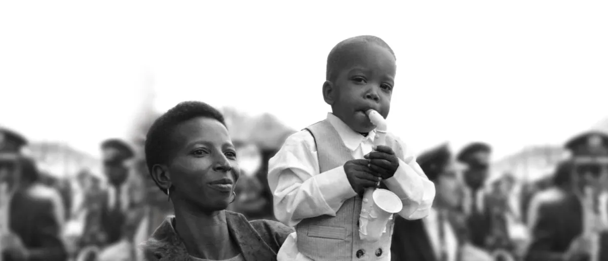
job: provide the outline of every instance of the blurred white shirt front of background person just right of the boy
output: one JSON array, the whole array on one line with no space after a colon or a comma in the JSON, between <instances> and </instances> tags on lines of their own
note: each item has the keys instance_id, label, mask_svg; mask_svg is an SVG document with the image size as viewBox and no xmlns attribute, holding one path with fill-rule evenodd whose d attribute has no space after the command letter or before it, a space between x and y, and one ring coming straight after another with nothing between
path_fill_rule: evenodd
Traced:
<instances>
[{"instance_id":1,"label":"blurred white shirt front of background person just right of the boy","mask_svg":"<svg viewBox=\"0 0 608 261\"><path fill-rule=\"evenodd\" d=\"M433 248L433 252L435 253L435 257L439 260L441 256L441 239L439 235L439 213L435 209L430 209L429 215L423 219L424 228L426 228L427 235L429 235L430 245ZM457 252L458 252L458 240L456 235L454 234L454 229L452 229L452 225L447 221L447 217L443 220L443 231L444 231L444 241L443 244L447 253L447 261L456 261Z\"/></svg>"}]
</instances>

